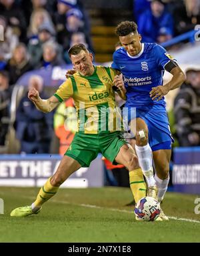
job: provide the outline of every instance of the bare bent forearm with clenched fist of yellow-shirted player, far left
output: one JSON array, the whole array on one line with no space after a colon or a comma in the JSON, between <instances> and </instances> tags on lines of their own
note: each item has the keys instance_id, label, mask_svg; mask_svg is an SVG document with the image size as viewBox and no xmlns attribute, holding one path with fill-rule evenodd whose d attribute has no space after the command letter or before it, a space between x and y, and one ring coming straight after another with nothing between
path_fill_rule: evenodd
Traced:
<instances>
[{"instance_id":1,"label":"bare bent forearm with clenched fist of yellow-shirted player, far left","mask_svg":"<svg viewBox=\"0 0 200 256\"><path fill-rule=\"evenodd\" d=\"M41 99L41 97L39 97L39 91L35 88L29 90L28 97L33 101L37 109L44 113L51 112L59 105L59 100L55 96L51 96L49 99Z\"/></svg>"}]
</instances>

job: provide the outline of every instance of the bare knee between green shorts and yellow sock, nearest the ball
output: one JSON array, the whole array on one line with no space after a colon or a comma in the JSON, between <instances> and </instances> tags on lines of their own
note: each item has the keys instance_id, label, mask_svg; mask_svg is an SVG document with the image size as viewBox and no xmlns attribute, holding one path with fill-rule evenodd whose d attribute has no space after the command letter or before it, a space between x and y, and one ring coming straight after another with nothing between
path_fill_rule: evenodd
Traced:
<instances>
[{"instance_id":1,"label":"bare knee between green shorts and yellow sock, nearest the ball","mask_svg":"<svg viewBox=\"0 0 200 256\"><path fill-rule=\"evenodd\" d=\"M123 164L129 171L139 168L137 155L129 144L121 146L119 153L117 153L117 156L115 157L115 161Z\"/></svg>"}]
</instances>

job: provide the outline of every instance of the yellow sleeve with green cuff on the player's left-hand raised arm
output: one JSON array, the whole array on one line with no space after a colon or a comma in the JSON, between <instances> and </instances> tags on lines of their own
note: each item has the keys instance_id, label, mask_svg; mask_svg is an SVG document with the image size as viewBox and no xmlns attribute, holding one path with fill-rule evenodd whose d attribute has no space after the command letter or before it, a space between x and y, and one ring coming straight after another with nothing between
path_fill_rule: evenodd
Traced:
<instances>
[{"instance_id":1,"label":"yellow sleeve with green cuff on the player's left-hand raised arm","mask_svg":"<svg viewBox=\"0 0 200 256\"><path fill-rule=\"evenodd\" d=\"M71 83L71 79L67 79L64 83L59 86L56 93L54 94L55 97L60 102L63 102L65 99L68 99L73 95L73 85Z\"/></svg>"}]
</instances>

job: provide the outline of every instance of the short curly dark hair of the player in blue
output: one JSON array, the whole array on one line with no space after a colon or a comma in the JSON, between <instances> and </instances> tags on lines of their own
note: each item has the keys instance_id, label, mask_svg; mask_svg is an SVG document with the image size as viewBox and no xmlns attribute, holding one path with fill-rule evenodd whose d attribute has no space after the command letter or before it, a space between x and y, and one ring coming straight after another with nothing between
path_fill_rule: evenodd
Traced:
<instances>
[{"instance_id":1,"label":"short curly dark hair of the player in blue","mask_svg":"<svg viewBox=\"0 0 200 256\"><path fill-rule=\"evenodd\" d=\"M115 33L119 37L129 35L132 32L137 32L137 24L134 21L122 21L115 29Z\"/></svg>"}]
</instances>

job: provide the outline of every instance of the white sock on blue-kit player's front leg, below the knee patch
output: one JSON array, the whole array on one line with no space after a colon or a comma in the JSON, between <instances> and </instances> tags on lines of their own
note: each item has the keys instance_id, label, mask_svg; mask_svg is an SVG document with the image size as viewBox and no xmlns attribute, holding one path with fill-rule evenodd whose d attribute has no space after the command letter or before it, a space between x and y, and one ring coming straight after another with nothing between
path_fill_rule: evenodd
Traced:
<instances>
[{"instance_id":1,"label":"white sock on blue-kit player's front leg, below the knee patch","mask_svg":"<svg viewBox=\"0 0 200 256\"><path fill-rule=\"evenodd\" d=\"M135 145L135 151L137 153L139 165L145 175L147 180L147 186L155 185L155 179L153 177L153 167L152 167L152 151L149 143L143 147Z\"/></svg>"}]
</instances>

